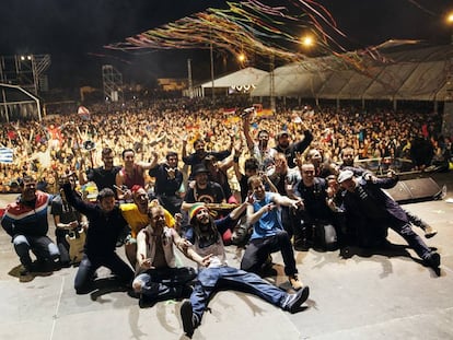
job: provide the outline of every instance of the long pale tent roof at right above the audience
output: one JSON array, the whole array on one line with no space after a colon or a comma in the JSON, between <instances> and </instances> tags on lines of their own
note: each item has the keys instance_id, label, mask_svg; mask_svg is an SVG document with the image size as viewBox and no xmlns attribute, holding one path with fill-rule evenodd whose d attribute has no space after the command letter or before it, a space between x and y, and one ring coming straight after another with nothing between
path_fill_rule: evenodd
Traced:
<instances>
[{"instance_id":1,"label":"long pale tent roof at right above the audience","mask_svg":"<svg viewBox=\"0 0 453 340\"><path fill-rule=\"evenodd\" d=\"M434 101L445 97L453 46L392 46L380 54L380 61L363 59L362 70L339 57L314 58L277 68L274 94L329 99ZM269 96L269 84L270 73L262 79L252 95Z\"/></svg>"}]
</instances>

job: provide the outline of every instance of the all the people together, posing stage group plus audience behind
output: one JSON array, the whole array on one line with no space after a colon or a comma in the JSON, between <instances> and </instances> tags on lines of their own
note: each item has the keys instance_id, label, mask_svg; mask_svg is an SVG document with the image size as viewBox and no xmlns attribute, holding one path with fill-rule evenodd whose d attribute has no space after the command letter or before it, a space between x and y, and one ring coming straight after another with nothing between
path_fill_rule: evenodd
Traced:
<instances>
[{"instance_id":1,"label":"all the people together, posing stage group plus audience behind","mask_svg":"<svg viewBox=\"0 0 453 340\"><path fill-rule=\"evenodd\" d=\"M440 255L413 226L427 238L437 231L383 191L406 163L449 169L451 140L440 134L439 115L305 107L269 117L226 108L172 101L4 125L1 142L14 150L14 163L2 164L1 185L21 196L1 224L21 274L71 266L63 236L84 231L78 294L91 292L97 268L106 267L140 306L184 300L181 317L191 337L219 290L299 312L310 290L294 251L382 248L392 228L425 266L439 268ZM362 160L387 164L385 177ZM116 253L123 245L129 263ZM230 245L245 248L241 268L226 265ZM176 266L176 248L197 270ZM276 251L292 292L263 280Z\"/></svg>"}]
</instances>

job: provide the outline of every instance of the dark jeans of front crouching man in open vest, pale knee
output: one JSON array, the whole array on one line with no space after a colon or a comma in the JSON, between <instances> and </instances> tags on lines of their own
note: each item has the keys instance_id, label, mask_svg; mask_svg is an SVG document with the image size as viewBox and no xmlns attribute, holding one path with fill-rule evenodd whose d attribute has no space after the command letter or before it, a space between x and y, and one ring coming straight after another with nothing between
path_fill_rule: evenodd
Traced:
<instances>
[{"instance_id":1,"label":"dark jeans of front crouching man in open vest, pale knee","mask_svg":"<svg viewBox=\"0 0 453 340\"><path fill-rule=\"evenodd\" d=\"M136 277L132 285L140 285L140 293L150 301L163 301L182 296L183 288L197 277L194 268L149 269Z\"/></svg>"}]
</instances>

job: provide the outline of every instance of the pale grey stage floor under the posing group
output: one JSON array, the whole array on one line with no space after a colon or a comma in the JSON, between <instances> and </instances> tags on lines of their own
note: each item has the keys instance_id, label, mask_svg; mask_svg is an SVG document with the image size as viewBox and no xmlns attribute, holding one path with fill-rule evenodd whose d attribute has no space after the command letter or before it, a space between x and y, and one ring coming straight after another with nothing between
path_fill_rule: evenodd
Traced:
<instances>
[{"instance_id":1,"label":"pale grey stage floor under the posing group","mask_svg":"<svg viewBox=\"0 0 453 340\"><path fill-rule=\"evenodd\" d=\"M220 292L193 339L453 339L453 174L432 178L446 184L445 198L404 207L439 231L433 238L422 237L442 256L439 273L421 265L393 231L388 241L395 247L380 254L349 249L349 258L342 259L339 250L297 251L301 279L311 290L304 310L291 315L252 295ZM14 197L0 196L0 208ZM186 338L181 302L140 308L125 292L76 295L77 268L21 282L19 258L3 230L0 251L0 339ZM228 251L230 265L239 267L235 247ZM123 248L118 253L124 257ZM274 262L282 263L279 254ZM268 280L284 288L287 278L281 266L276 268L280 275ZM100 270L100 277L107 274Z\"/></svg>"}]
</instances>

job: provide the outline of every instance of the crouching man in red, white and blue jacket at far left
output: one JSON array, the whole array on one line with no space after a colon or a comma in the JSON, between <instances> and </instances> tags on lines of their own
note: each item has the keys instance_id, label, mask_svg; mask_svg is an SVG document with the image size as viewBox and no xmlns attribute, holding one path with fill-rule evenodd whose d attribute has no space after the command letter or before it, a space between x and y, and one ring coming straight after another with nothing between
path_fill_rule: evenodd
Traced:
<instances>
[{"instance_id":1,"label":"crouching man in red, white and blue jacket at far left","mask_svg":"<svg viewBox=\"0 0 453 340\"><path fill-rule=\"evenodd\" d=\"M49 230L47 209L53 196L36 190L36 180L25 175L20 183L21 196L7 206L1 226L12 237L14 250L21 260L21 275L31 272L51 271L59 266L60 253L47 236ZM36 256L32 261L30 250Z\"/></svg>"}]
</instances>

